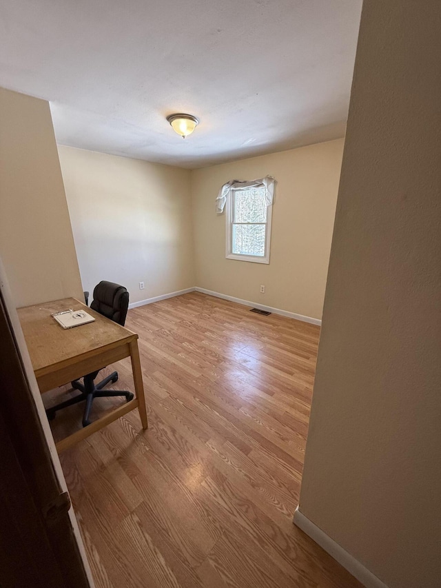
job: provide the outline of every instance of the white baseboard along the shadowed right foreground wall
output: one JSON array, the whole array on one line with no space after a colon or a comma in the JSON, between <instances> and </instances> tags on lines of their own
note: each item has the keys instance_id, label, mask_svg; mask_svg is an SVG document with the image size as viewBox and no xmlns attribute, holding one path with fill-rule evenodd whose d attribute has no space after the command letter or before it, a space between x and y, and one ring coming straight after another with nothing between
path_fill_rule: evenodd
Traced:
<instances>
[{"instance_id":1,"label":"white baseboard along the shadowed right foreground wall","mask_svg":"<svg viewBox=\"0 0 441 588\"><path fill-rule=\"evenodd\" d=\"M296 512L294 513L294 525L302 529L312 540L314 540L320 547L325 549L327 553L333 557L335 560L338 561L343 567L349 571L352 576L357 578L359 582L362 583L366 588L387 588L387 585L384 584L374 576L367 567L362 565L356 558L353 558L351 554L348 554L345 549L340 547L338 543L331 539L329 535L327 535L322 529L314 525L309 518L307 518L304 514L300 512L298 507L296 508Z\"/></svg>"}]
</instances>

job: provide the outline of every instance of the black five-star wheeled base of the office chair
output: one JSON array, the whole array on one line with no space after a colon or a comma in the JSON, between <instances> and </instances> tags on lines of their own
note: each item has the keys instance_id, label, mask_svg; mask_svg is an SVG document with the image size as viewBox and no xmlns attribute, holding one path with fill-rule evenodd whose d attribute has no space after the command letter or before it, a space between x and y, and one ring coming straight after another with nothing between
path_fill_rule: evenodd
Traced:
<instances>
[{"instance_id":1,"label":"black five-star wheeled base of the office chair","mask_svg":"<svg viewBox=\"0 0 441 588\"><path fill-rule=\"evenodd\" d=\"M81 394L78 396L74 396L74 398L70 398L68 401L64 401L59 403L55 406L52 406L46 409L46 415L48 416L49 420L53 420L57 411L66 408L68 406L72 406L74 404L78 404L82 401L85 401L85 408L83 414L83 427L87 427L90 425L90 411L92 410L92 403L94 398L107 398L110 396L125 396L127 402L133 400L132 392L128 392L127 390L104 390L102 391L103 387L107 385L109 382L115 383L118 380L117 372L112 372L110 376L104 378L100 383L95 384L94 379L96 378L95 374L88 374L88 376L84 376L83 381L84 384L81 384L79 380L74 380L71 382L72 388L79 390Z\"/></svg>"}]
</instances>

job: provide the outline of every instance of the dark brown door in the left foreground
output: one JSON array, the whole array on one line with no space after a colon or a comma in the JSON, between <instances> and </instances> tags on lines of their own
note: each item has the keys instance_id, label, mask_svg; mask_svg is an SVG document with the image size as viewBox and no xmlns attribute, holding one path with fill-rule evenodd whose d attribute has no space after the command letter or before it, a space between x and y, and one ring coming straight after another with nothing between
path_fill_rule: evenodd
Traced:
<instances>
[{"instance_id":1,"label":"dark brown door in the left foreground","mask_svg":"<svg viewBox=\"0 0 441 588\"><path fill-rule=\"evenodd\" d=\"M1 286L0 587L89 588L70 499L32 395L36 383L17 343L17 313Z\"/></svg>"}]
</instances>

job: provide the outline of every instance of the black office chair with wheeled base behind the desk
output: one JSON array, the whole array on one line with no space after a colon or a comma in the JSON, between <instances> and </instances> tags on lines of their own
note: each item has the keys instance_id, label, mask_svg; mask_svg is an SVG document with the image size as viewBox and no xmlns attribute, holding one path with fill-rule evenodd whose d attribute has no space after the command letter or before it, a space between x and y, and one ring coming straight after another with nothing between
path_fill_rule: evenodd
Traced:
<instances>
[{"instance_id":1,"label":"black office chair with wheeled base behind the desk","mask_svg":"<svg viewBox=\"0 0 441 588\"><path fill-rule=\"evenodd\" d=\"M114 284L112 282L102 281L95 287L94 299L90 305L90 308L96 310L96 312L99 312L99 314L103 314L103 316L107 316L107 318L110 318L115 323L119 323L119 325L124 326L128 307L129 293L124 286L120 286L119 284ZM101 381L99 384L95 384L94 381L98 374L99 369L96 370L96 372L92 372L92 374L83 376L83 384L81 384L79 380L74 380L72 382L72 388L79 390L81 394L75 396L74 398L70 398L68 401L48 408L46 410L46 414L48 415L49 420L55 418L55 413L58 410L85 400L83 427L87 427L87 425L90 425L89 416L94 398L104 398L106 396L125 396L127 402L132 400L133 394L132 392L127 392L127 390L102 390L103 387L110 381L115 383L118 380L117 372L112 372L110 376L104 378L103 381Z\"/></svg>"}]
</instances>

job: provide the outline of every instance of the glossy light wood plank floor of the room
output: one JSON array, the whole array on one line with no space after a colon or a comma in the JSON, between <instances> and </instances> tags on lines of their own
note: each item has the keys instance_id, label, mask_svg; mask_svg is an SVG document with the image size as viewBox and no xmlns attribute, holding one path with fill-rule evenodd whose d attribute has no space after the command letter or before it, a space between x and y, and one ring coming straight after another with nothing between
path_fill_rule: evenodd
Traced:
<instances>
[{"instance_id":1,"label":"glossy light wood plank floor of the room","mask_svg":"<svg viewBox=\"0 0 441 588\"><path fill-rule=\"evenodd\" d=\"M126 325L150 428L133 411L61 456L96 586L360 586L292 523L318 327L198 293L130 310ZM114 387L133 389L129 361L114 367ZM65 409L54 436L80 420Z\"/></svg>"}]
</instances>

